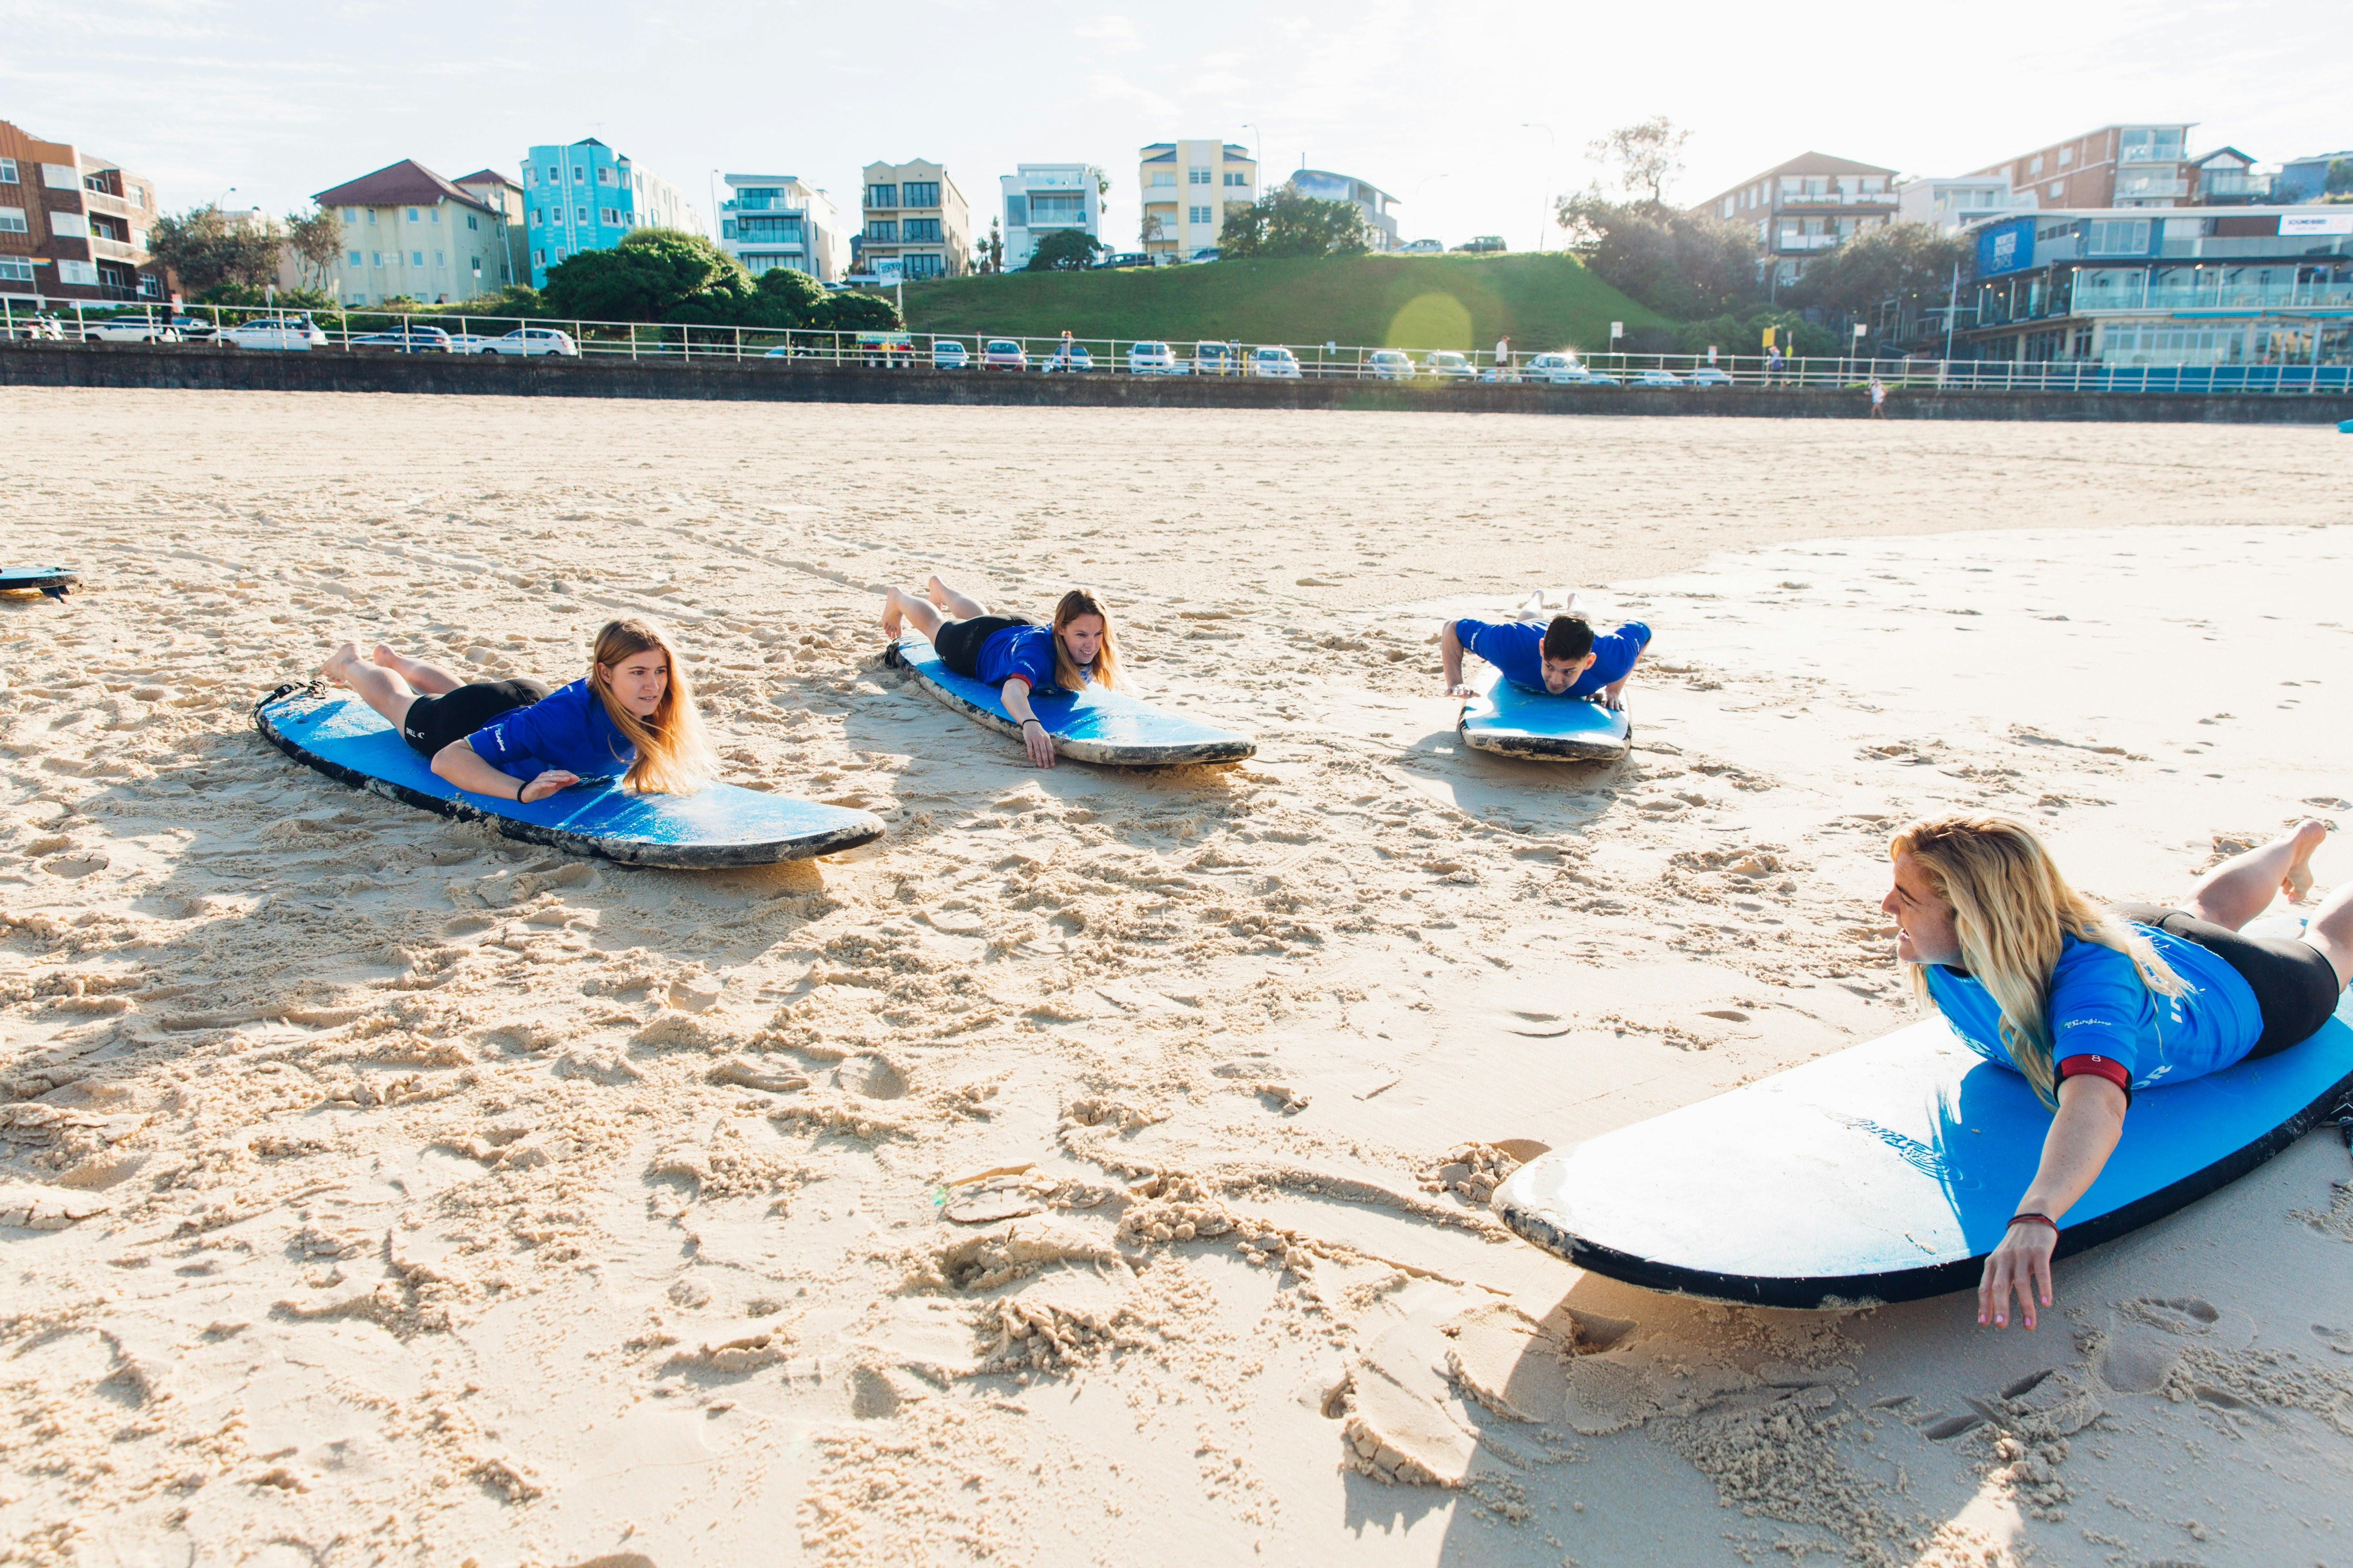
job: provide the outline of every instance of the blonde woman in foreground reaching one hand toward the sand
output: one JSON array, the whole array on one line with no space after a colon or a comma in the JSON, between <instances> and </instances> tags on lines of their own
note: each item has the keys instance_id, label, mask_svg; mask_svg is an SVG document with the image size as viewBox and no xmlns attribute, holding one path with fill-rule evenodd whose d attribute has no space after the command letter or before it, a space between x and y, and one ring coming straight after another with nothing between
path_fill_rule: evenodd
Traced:
<instances>
[{"instance_id":1,"label":"blonde woman in foreground reaching one hand toward the sand","mask_svg":"<svg viewBox=\"0 0 2353 1568\"><path fill-rule=\"evenodd\" d=\"M2137 1088L2181 1084L2308 1039L2353 978L2353 884L2299 940L2242 936L2273 893L2304 898L2325 823L2224 860L2179 910L2101 910L2042 839L1995 816L1911 823L1889 842L1897 959L1913 992L2052 1107L2042 1164L1986 1258L1977 1321L2052 1305L2059 1218L2108 1164Z\"/></svg>"}]
</instances>

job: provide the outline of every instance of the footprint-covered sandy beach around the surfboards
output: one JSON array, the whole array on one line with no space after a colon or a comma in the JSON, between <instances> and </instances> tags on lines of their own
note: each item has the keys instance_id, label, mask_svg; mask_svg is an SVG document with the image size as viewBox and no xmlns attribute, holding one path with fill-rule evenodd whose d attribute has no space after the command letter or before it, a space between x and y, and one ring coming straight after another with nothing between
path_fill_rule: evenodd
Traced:
<instances>
[{"instance_id":1,"label":"footprint-covered sandy beach around the surfboards","mask_svg":"<svg viewBox=\"0 0 2353 1568\"><path fill-rule=\"evenodd\" d=\"M1485 1204L1901 1027L1887 830L2097 896L2353 827L2327 428L0 393L0 1563L2353 1561L2353 1161L1965 1298L1748 1312ZM1252 762L1038 771L885 583L1094 585ZM1657 630L1471 755L1435 628ZM687 649L819 863L346 790L334 642ZM2353 877L2353 839L2315 863ZM1694 1150L1694 1159L1706 1159Z\"/></svg>"}]
</instances>

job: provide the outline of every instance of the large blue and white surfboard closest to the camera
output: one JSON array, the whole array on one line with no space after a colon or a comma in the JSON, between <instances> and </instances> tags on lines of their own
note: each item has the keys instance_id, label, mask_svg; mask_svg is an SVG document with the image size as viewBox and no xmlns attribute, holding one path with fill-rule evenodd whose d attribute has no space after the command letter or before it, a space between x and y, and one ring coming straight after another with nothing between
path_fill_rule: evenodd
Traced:
<instances>
[{"instance_id":1,"label":"large blue and white surfboard closest to the camera","mask_svg":"<svg viewBox=\"0 0 2353 1568\"><path fill-rule=\"evenodd\" d=\"M2238 1180L2353 1095L2353 997L2311 1039L2132 1095L2125 1138L2066 1211L2059 1255ZM1969 1291L2052 1114L1944 1020L1555 1150L1494 1208L1569 1262L1762 1307Z\"/></svg>"}]
</instances>

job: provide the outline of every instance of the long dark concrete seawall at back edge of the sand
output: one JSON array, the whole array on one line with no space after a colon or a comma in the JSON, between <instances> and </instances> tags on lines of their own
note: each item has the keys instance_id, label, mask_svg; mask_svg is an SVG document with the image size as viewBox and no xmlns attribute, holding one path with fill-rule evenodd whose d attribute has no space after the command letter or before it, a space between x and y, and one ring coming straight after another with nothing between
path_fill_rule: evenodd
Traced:
<instances>
[{"instance_id":1,"label":"long dark concrete seawall at back edge of the sand","mask_svg":"<svg viewBox=\"0 0 2353 1568\"><path fill-rule=\"evenodd\" d=\"M1400 386L1224 376L1038 376L864 369L788 360L515 360L504 355L266 353L155 343L0 343L0 386L245 393L433 393L489 397L708 397L725 402L918 402L1028 409L1374 409L1454 414L1664 414L1861 418L1859 390ZM1889 418L2064 418L2325 425L2353 395L1927 393L1897 390Z\"/></svg>"}]
</instances>

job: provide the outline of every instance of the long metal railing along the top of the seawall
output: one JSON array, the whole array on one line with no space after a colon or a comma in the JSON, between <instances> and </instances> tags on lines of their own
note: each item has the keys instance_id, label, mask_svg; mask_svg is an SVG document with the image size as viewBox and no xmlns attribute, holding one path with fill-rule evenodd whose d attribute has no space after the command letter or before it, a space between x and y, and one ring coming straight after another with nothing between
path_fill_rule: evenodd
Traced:
<instances>
[{"instance_id":1,"label":"long metal railing along the top of the seawall","mask_svg":"<svg viewBox=\"0 0 2353 1568\"><path fill-rule=\"evenodd\" d=\"M167 341L228 346L242 322L301 317L332 353L511 353L595 360L781 362L788 367L873 367L932 374L1136 374L1235 378L1339 378L1417 386L1513 383L1591 388L1786 388L1866 390L2005 390L2005 393L2353 393L2353 364L2108 364L2099 360L1911 360L1871 355L1635 355L1577 353L1511 355L1492 350L1395 350L1341 343L1240 343L1169 339L1033 339L986 331L833 331L784 327L720 327L671 322L591 322L471 313L292 310L256 306L115 308L99 301L26 301L0 294L7 339L104 339L106 322L146 322ZM28 331L28 327L40 329ZM176 324L179 322L179 324ZM567 346L511 334L560 331ZM285 336L285 334L278 334ZM273 343L275 346L275 343ZM292 343L289 343L292 346ZM1165 353L1162 353L1165 350ZM1402 355L1402 362L1400 362Z\"/></svg>"}]
</instances>

